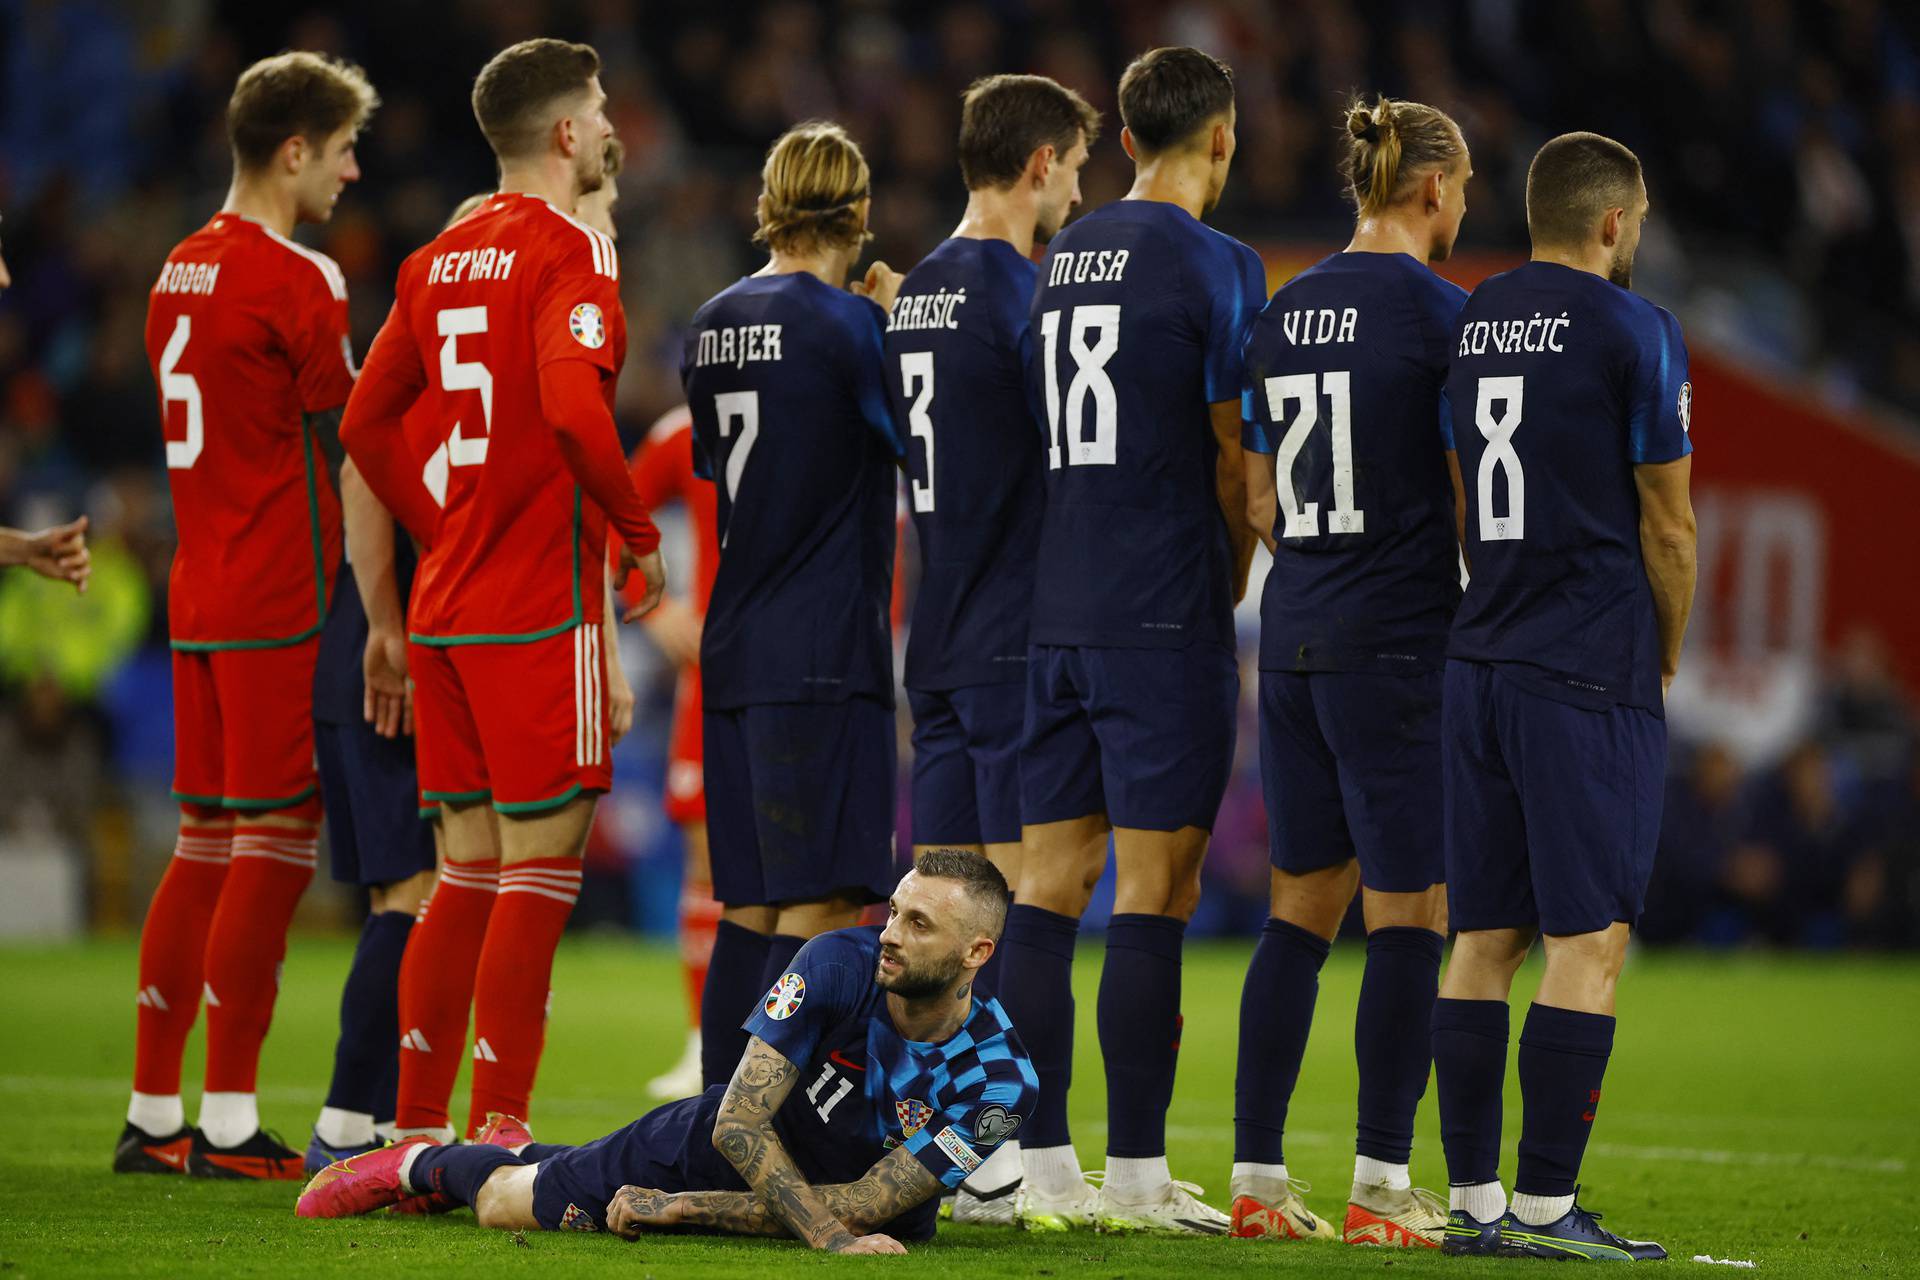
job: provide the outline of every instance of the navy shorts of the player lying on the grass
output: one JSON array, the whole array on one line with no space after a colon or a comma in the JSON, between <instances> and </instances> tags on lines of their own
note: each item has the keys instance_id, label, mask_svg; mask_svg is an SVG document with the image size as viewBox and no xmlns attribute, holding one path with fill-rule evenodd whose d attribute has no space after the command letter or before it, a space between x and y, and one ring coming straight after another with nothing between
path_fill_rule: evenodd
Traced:
<instances>
[{"instance_id":1,"label":"navy shorts of the player lying on the grass","mask_svg":"<svg viewBox=\"0 0 1920 1280\"><path fill-rule=\"evenodd\" d=\"M534 1221L549 1232L607 1230L607 1201L622 1186L660 1192L743 1192L747 1184L712 1146L726 1090L655 1107L624 1128L540 1159ZM532 1155L532 1151L528 1151Z\"/></svg>"}]
</instances>

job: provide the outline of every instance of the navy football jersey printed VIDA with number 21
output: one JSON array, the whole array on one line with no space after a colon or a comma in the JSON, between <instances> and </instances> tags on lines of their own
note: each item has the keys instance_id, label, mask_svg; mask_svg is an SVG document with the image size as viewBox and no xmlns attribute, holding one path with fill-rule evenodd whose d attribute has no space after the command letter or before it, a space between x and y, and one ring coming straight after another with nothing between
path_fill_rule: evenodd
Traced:
<instances>
[{"instance_id":1,"label":"navy football jersey printed VIDA with number 21","mask_svg":"<svg viewBox=\"0 0 1920 1280\"><path fill-rule=\"evenodd\" d=\"M1240 441L1275 459L1269 672L1430 672L1459 604L1440 393L1467 292L1405 253L1334 253L1246 340Z\"/></svg>"}]
</instances>

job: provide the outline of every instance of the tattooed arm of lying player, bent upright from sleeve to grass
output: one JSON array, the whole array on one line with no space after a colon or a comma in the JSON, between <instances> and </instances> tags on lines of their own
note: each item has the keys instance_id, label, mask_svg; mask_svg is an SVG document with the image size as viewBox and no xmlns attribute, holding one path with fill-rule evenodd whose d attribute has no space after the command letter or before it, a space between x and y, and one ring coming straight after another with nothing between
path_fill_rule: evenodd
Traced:
<instances>
[{"instance_id":1,"label":"tattooed arm of lying player, bent upright from sleeve to grass","mask_svg":"<svg viewBox=\"0 0 1920 1280\"><path fill-rule=\"evenodd\" d=\"M818 1188L801 1176L774 1132L774 1115L793 1092L797 1075L778 1050L760 1036L751 1036L726 1086L726 1098L720 1100L714 1150L739 1171L789 1232L814 1249L839 1251L854 1242L854 1234L833 1215Z\"/></svg>"}]
</instances>

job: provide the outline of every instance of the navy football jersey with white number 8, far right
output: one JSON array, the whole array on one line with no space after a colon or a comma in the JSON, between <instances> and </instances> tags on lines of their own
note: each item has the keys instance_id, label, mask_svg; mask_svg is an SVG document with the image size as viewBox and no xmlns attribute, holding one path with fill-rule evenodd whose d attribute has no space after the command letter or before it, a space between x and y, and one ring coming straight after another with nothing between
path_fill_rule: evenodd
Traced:
<instances>
[{"instance_id":1,"label":"navy football jersey with white number 8, far right","mask_svg":"<svg viewBox=\"0 0 1920 1280\"><path fill-rule=\"evenodd\" d=\"M1601 276L1526 263L1473 292L1450 345L1473 576L1448 656L1659 714L1634 466L1693 451L1680 322Z\"/></svg>"}]
</instances>

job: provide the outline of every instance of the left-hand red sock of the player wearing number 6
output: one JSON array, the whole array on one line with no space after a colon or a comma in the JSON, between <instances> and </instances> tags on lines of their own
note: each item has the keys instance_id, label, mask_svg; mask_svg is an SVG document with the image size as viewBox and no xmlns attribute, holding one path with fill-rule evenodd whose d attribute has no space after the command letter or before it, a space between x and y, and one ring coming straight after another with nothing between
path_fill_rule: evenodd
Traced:
<instances>
[{"instance_id":1,"label":"left-hand red sock of the player wearing number 6","mask_svg":"<svg viewBox=\"0 0 1920 1280\"><path fill-rule=\"evenodd\" d=\"M140 927L140 996L132 1088L180 1092L180 1054L200 1013L202 963L213 910L227 883L232 831L180 823L167 873Z\"/></svg>"}]
</instances>

